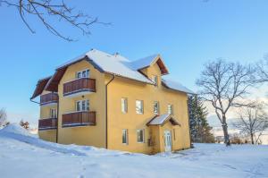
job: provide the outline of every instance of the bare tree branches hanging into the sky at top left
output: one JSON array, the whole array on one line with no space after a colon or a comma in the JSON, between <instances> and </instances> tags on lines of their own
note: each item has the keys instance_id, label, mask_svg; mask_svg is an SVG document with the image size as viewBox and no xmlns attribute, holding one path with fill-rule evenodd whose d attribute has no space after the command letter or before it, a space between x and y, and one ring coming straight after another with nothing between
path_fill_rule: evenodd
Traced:
<instances>
[{"instance_id":1,"label":"bare tree branches hanging into the sky at top left","mask_svg":"<svg viewBox=\"0 0 268 178\"><path fill-rule=\"evenodd\" d=\"M20 14L21 20L27 26L31 33L35 30L29 25L27 15L34 15L41 21L46 30L53 33L55 36L63 38L67 41L73 41L73 38L66 37L61 32L56 30L52 23L49 22L49 17L54 17L58 21L66 21L71 26L79 29L83 35L90 34L89 26L93 23L102 23L97 21L97 18L92 18L85 13L75 12L63 1L55 0L0 0L1 4L6 4L8 7L14 7Z\"/></svg>"}]
</instances>

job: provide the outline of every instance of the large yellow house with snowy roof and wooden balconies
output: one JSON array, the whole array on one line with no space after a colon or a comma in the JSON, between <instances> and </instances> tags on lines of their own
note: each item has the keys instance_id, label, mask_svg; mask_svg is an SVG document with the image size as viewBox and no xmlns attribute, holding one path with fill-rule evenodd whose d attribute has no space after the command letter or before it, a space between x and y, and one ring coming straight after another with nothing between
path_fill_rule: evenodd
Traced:
<instances>
[{"instance_id":1,"label":"large yellow house with snowy roof and wooden balconies","mask_svg":"<svg viewBox=\"0 0 268 178\"><path fill-rule=\"evenodd\" d=\"M38 134L63 144L155 154L190 147L187 95L160 55L90 50L38 81Z\"/></svg>"}]
</instances>

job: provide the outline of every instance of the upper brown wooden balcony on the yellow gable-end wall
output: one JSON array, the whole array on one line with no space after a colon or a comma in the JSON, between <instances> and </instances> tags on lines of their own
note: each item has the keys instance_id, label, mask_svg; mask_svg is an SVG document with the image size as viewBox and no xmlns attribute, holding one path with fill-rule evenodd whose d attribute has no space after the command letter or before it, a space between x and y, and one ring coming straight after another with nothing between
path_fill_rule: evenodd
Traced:
<instances>
[{"instance_id":1,"label":"upper brown wooden balcony on the yellow gable-end wall","mask_svg":"<svg viewBox=\"0 0 268 178\"><path fill-rule=\"evenodd\" d=\"M86 95L96 92L96 80L80 78L63 84L63 96Z\"/></svg>"}]
</instances>

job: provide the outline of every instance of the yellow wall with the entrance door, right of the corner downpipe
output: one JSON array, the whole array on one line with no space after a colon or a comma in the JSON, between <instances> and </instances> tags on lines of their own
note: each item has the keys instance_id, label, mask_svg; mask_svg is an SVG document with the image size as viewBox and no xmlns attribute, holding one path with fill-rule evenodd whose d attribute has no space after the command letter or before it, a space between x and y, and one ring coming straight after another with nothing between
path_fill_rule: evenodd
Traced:
<instances>
[{"instance_id":1,"label":"yellow wall with the entrance door, right of the corner downpipe","mask_svg":"<svg viewBox=\"0 0 268 178\"><path fill-rule=\"evenodd\" d=\"M148 147L147 140L150 138L150 129L146 123L155 115L153 112L154 101L160 104L160 114L167 113L167 106L173 105L173 117L181 126L170 126L166 123L160 127L160 138L164 128L169 126L172 131L176 129L176 140L172 140L172 150L189 148L188 131L188 107L187 95L182 92L165 89L161 83L161 73L157 64L144 70L147 76L158 76L158 87L138 81L131 81L121 77L115 77L108 87L108 148L142 152L150 154L153 149L163 151L163 140L160 140L156 148ZM121 113L121 97L128 98L128 113ZM136 100L143 100L144 114L136 114ZM128 129L129 144L121 143L121 131ZM145 129L145 143L137 142L137 130ZM157 130L157 129L154 129Z\"/></svg>"}]
</instances>

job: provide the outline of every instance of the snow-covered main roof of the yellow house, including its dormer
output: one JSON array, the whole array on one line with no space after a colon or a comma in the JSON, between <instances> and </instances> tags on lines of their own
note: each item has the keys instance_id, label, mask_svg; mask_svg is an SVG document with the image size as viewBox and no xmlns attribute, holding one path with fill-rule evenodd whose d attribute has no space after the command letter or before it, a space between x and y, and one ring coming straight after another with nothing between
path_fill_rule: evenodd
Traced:
<instances>
[{"instance_id":1,"label":"snow-covered main roof of the yellow house, including its dormer","mask_svg":"<svg viewBox=\"0 0 268 178\"><path fill-rule=\"evenodd\" d=\"M45 89L49 91L57 91L57 83L59 83L63 77L67 67L71 64L79 63L82 60L87 60L88 63L92 64L100 72L110 73L135 81L146 82L148 84L154 84L154 82L148 79L146 75L139 72L139 69L156 63L158 64L162 74L168 73L160 55L150 55L136 61L130 61L126 57L119 54L110 55L96 49L91 49L87 53L84 53L83 55L80 55L71 61L58 66L53 77L46 83ZM163 86L168 89L175 89L181 92L194 94L194 92L182 86L178 82L163 80Z\"/></svg>"}]
</instances>

